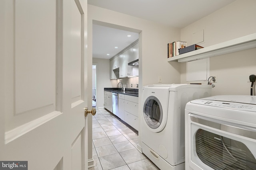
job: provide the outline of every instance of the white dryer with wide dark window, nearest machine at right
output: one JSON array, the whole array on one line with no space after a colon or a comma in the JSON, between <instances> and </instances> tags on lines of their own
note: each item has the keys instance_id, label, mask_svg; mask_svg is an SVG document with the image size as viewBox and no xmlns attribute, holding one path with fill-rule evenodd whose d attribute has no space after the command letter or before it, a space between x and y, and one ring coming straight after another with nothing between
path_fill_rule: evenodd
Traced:
<instances>
[{"instance_id":1,"label":"white dryer with wide dark window, nearest machine at right","mask_svg":"<svg viewBox=\"0 0 256 170\"><path fill-rule=\"evenodd\" d=\"M256 170L256 96L212 96L185 109L186 170Z\"/></svg>"}]
</instances>

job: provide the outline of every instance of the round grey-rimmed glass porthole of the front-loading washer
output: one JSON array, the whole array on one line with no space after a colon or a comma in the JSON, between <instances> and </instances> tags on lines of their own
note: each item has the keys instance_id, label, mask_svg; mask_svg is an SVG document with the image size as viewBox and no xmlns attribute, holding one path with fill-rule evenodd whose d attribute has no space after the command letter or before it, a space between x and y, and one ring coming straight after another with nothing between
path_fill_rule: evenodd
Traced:
<instances>
[{"instance_id":1,"label":"round grey-rimmed glass porthole of the front-loading washer","mask_svg":"<svg viewBox=\"0 0 256 170\"><path fill-rule=\"evenodd\" d=\"M163 118L163 109L159 100L154 96L149 96L143 107L143 115L147 125L156 129L160 126Z\"/></svg>"}]
</instances>

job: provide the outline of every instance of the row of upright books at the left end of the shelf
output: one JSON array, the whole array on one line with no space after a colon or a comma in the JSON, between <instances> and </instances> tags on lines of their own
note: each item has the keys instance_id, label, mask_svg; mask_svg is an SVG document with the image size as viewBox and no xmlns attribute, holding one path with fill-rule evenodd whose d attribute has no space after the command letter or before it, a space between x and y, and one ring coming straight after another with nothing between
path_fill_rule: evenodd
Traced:
<instances>
[{"instance_id":1,"label":"row of upright books at the left end of the shelf","mask_svg":"<svg viewBox=\"0 0 256 170\"><path fill-rule=\"evenodd\" d=\"M180 49L185 48L187 45L187 42L184 41L176 41L176 42L172 42L172 43L168 43L167 44L167 49L168 49L168 53L167 53L167 57L174 57L176 55L180 54Z\"/></svg>"}]
</instances>

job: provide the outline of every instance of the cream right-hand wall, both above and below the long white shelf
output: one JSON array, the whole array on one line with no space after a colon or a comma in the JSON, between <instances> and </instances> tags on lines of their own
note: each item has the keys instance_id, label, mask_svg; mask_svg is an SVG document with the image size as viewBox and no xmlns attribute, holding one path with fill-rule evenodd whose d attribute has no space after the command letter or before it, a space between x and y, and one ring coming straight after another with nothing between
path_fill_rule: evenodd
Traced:
<instances>
[{"instance_id":1,"label":"cream right-hand wall, both above and below the long white shelf","mask_svg":"<svg viewBox=\"0 0 256 170\"><path fill-rule=\"evenodd\" d=\"M204 29L203 47L256 33L256 1L237 0L181 29L181 39L191 45L192 33ZM250 95L249 76L256 74L256 49L210 57L210 76L217 76L212 95ZM181 83L186 82L186 63L181 64ZM202 82L206 83L206 82ZM255 95L255 94L254 94Z\"/></svg>"}]
</instances>

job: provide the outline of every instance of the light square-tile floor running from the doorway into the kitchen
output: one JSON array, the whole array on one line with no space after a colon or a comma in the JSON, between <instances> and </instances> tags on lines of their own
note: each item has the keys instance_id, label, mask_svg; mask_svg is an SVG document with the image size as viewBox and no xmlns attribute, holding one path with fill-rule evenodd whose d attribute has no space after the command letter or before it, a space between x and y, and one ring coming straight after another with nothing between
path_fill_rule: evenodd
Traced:
<instances>
[{"instance_id":1,"label":"light square-tile floor running from the doorway into the kitchen","mask_svg":"<svg viewBox=\"0 0 256 170\"><path fill-rule=\"evenodd\" d=\"M92 118L92 156L88 170L159 170L137 149L138 136L104 109Z\"/></svg>"}]
</instances>

